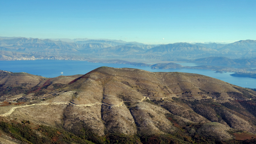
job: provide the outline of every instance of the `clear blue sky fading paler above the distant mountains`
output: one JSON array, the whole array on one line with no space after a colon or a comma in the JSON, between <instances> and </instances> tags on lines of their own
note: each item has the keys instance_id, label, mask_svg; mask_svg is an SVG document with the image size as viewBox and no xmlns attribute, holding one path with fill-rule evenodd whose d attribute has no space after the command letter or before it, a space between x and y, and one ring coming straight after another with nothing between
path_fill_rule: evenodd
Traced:
<instances>
[{"instance_id":1,"label":"clear blue sky fading paler above the distant mountains","mask_svg":"<svg viewBox=\"0 0 256 144\"><path fill-rule=\"evenodd\" d=\"M256 40L256 0L0 0L0 36L145 44Z\"/></svg>"}]
</instances>

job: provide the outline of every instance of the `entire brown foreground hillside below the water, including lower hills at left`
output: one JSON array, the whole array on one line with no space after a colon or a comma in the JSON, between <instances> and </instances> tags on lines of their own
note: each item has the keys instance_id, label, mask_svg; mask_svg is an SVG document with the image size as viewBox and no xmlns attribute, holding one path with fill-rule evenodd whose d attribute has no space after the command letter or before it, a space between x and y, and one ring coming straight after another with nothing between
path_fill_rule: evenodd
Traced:
<instances>
[{"instance_id":1,"label":"entire brown foreground hillside below the water, including lower hills at left","mask_svg":"<svg viewBox=\"0 0 256 144\"><path fill-rule=\"evenodd\" d=\"M1 142L256 140L256 92L208 76L100 67L83 76L0 78L1 91L26 89L1 95Z\"/></svg>"}]
</instances>

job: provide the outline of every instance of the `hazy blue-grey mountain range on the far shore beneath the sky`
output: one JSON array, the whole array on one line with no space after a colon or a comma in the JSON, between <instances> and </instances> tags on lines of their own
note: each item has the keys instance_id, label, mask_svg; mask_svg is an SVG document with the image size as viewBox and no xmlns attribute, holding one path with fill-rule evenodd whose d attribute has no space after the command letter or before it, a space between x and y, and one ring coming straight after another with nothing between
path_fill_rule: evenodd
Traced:
<instances>
[{"instance_id":1,"label":"hazy blue-grey mountain range on the far shore beneath the sky","mask_svg":"<svg viewBox=\"0 0 256 144\"><path fill-rule=\"evenodd\" d=\"M174 43L150 45L109 39L38 39L0 37L0 51L31 56L82 56L100 59L179 60L205 57L252 59L256 55L255 40L241 40L231 44ZM12 55L9 55L12 56ZM2 57L3 54L2 54Z\"/></svg>"}]
</instances>

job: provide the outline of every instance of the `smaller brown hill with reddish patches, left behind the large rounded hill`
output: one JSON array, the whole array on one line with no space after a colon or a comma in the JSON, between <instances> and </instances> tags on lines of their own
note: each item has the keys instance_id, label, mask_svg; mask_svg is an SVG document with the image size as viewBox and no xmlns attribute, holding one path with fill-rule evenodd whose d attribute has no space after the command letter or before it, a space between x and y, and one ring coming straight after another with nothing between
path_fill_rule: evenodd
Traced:
<instances>
[{"instance_id":1,"label":"smaller brown hill with reddish patches, left behind the large rounded hill","mask_svg":"<svg viewBox=\"0 0 256 144\"><path fill-rule=\"evenodd\" d=\"M12 73L0 70L0 100L18 100L31 93L40 96L58 89L81 75L46 78L25 72ZM28 101L28 99L19 99Z\"/></svg>"}]
</instances>

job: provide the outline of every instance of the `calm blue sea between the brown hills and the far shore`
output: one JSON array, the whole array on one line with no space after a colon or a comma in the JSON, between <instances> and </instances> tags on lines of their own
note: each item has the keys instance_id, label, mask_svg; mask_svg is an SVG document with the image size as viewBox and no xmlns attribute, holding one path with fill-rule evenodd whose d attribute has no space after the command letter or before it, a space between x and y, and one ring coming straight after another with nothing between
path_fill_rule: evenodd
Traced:
<instances>
[{"instance_id":1,"label":"calm blue sea between the brown hills and the far shore","mask_svg":"<svg viewBox=\"0 0 256 144\"><path fill-rule=\"evenodd\" d=\"M179 63L182 66L198 66L195 63ZM213 78L220 79L241 87L256 88L256 79L249 77L230 76L233 73L215 73L207 69L151 69L146 66L132 66L129 64L112 64L112 63L91 63L88 61L76 60L13 60L1 61L0 70L11 72L26 72L33 75L44 77L71 76L77 74L86 74L95 68L102 66L113 68L138 68L150 72L184 72L195 73Z\"/></svg>"}]
</instances>

